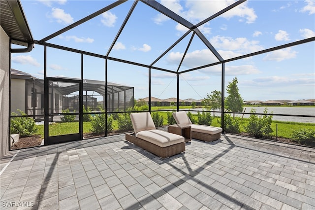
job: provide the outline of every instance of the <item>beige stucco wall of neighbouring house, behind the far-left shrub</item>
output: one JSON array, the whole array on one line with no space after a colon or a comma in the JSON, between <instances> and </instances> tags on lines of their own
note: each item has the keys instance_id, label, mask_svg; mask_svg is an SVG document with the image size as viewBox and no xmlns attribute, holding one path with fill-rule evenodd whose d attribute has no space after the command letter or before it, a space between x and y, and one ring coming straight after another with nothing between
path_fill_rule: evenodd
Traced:
<instances>
[{"instance_id":1,"label":"beige stucco wall of neighbouring house, behind the far-left shrub","mask_svg":"<svg viewBox=\"0 0 315 210\"><path fill-rule=\"evenodd\" d=\"M25 110L25 79L11 79L11 112L20 114L17 109Z\"/></svg>"}]
</instances>

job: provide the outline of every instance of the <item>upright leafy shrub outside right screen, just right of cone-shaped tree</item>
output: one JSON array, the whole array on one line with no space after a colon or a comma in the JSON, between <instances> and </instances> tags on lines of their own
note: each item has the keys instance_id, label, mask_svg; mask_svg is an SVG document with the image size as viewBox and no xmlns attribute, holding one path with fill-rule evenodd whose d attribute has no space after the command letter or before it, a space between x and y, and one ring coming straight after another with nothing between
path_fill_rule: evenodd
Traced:
<instances>
[{"instance_id":1,"label":"upright leafy shrub outside right screen, just right of cone-shaped tree","mask_svg":"<svg viewBox=\"0 0 315 210\"><path fill-rule=\"evenodd\" d=\"M264 113L267 114L268 109L265 108ZM251 109L251 113L256 113L256 109ZM255 114L251 114L249 123L245 127L245 131L255 138L270 137L272 133L271 129L272 115L263 115L258 117Z\"/></svg>"}]
</instances>

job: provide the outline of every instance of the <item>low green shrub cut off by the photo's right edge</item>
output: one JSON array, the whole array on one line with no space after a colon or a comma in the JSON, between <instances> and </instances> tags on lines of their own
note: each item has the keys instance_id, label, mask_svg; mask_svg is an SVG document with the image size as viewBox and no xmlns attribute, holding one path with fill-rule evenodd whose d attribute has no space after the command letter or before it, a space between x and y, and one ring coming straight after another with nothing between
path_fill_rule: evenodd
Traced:
<instances>
[{"instance_id":1,"label":"low green shrub cut off by the photo's right edge","mask_svg":"<svg viewBox=\"0 0 315 210\"><path fill-rule=\"evenodd\" d=\"M313 129L294 130L291 134L291 139L299 144L314 146L315 130Z\"/></svg>"}]
</instances>

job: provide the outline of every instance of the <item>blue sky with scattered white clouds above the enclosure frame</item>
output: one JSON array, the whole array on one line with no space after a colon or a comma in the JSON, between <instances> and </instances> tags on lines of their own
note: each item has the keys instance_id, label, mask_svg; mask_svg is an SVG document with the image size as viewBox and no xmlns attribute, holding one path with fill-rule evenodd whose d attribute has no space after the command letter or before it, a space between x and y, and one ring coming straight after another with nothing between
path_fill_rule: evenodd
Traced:
<instances>
[{"instance_id":1,"label":"blue sky with scattered white clouds above the enclosure frame","mask_svg":"<svg viewBox=\"0 0 315 210\"><path fill-rule=\"evenodd\" d=\"M40 40L110 5L109 0L21 0L33 38ZM106 55L133 4L126 1L48 43ZM235 1L161 0L167 8L197 24ZM198 28L224 59L315 36L314 0L248 0ZM138 2L109 56L152 64L187 28ZM155 67L176 71L192 33ZM47 75L80 78L80 54L47 51ZM315 42L225 64L225 83L238 78L244 100L315 99ZM217 62L194 35L179 71ZM43 78L43 46L12 54L11 67ZM84 56L84 79L104 80L104 60ZM148 96L148 69L108 61L108 81L135 87L135 99ZM152 96L176 97L176 74L152 70ZM180 75L180 99L203 99L221 90L221 65Z\"/></svg>"}]
</instances>

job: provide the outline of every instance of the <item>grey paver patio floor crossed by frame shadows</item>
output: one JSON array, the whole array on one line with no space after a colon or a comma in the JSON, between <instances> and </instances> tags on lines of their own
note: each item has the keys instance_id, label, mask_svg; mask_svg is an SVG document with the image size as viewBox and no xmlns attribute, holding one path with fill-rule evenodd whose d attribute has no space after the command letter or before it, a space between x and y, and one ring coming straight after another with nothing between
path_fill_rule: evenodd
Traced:
<instances>
[{"instance_id":1,"label":"grey paver patio floor crossed by frame shadows","mask_svg":"<svg viewBox=\"0 0 315 210\"><path fill-rule=\"evenodd\" d=\"M161 159L117 135L12 151L0 209L315 210L315 149L192 140Z\"/></svg>"}]
</instances>

